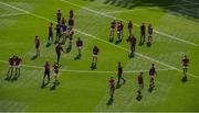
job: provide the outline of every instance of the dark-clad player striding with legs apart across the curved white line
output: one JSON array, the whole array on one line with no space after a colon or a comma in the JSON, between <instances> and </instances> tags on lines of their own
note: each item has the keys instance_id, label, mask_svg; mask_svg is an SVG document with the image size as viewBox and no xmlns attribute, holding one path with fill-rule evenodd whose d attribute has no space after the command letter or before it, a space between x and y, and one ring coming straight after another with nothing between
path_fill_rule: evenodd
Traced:
<instances>
[{"instance_id":1,"label":"dark-clad player striding with legs apart across the curved white line","mask_svg":"<svg viewBox=\"0 0 199 113\"><path fill-rule=\"evenodd\" d=\"M117 65L117 76L118 76L117 84L121 84L121 79L123 80L123 83L126 82L126 80L123 78L123 66L121 61Z\"/></svg>"}]
</instances>

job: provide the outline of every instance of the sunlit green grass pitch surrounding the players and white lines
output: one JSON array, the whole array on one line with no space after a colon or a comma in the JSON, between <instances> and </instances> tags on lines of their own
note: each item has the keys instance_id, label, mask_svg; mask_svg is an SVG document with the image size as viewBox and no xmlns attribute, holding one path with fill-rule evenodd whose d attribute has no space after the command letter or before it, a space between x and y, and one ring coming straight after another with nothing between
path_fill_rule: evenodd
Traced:
<instances>
[{"instance_id":1,"label":"sunlit green grass pitch surrounding the players and white lines","mask_svg":"<svg viewBox=\"0 0 199 113\"><path fill-rule=\"evenodd\" d=\"M105 0L69 0L81 7L103 12L135 10L123 13L108 13L108 15L128 20L134 23L153 23L154 29L172 35L175 37L192 42L199 45L199 23L198 19L177 13L165 8L176 2L168 0L165 2L156 1L148 3L146 0L135 0L135 7L132 9L105 3ZM179 1L179 0L178 0ZM199 111L199 47L193 46L168 36L155 33L154 44L150 48L137 46L137 53L150 57L136 56L133 59L127 57L129 46L124 41L119 45L108 44L109 22L113 20L103 14L97 14L86 9L81 9L61 0L0 0L0 15L23 13L17 9L2 4L23 9L40 18L31 14L20 14L13 16L0 16L0 111L14 112L36 112L36 111L83 111L83 112L138 112L138 111ZM197 1L196 1L197 2ZM134 3L133 3L134 4ZM132 5L133 5L132 4ZM130 5L128 5L130 7ZM195 5L197 8L197 5ZM139 9L143 10L139 10ZM153 9L151 9L153 8ZM55 60L54 45L45 47L48 26L46 18L55 21L57 9L67 16L69 10L75 12L75 29L96 36L93 38L75 32L74 38L81 36L84 41L83 57L81 60L74 60L77 53L76 48L69 54L63 54L61 58L63 70L86 70L91 71L92 47L97 45L101 48L98 55L97 69L93 72L70 72L61 71L61 84L53 91L50 90L52 83L41 89L43 70L40 68L22 67L22 75L18 81L4 81L8 60L12 55L19 55L23 59L23 65L43 67L45 60L51 65ZM134 26L134 34L139 37L139 27ZM41 37L41 56L31 60L34 55L34 36ZM124 38L127 37L126 23ZM123 47L123 48L122 48ZM64 49L66 46L64 46ZM125 49L124 49L125 48ZM117 61L122 61L126 71L148 70L151 63L156 64L157 69L167 69L168 67L158 64L155 60L181 69L181 58L187 54L190 58L189 72L197 76L190 77L186 83L180 81L182 74L178 70L158 71L156 77L156 88L150 93L148 89L148 72L144 72L145 88L143 90L142 101L136 100L137 72L124 74L126 84L116 90L113 105L107 106L108 101L108 79L115 74L97 74L95 71L115 71ZM153 60L151 60L153 59ZM155 60L154 60L155 59Z\"/></svg>"}]
</instances>

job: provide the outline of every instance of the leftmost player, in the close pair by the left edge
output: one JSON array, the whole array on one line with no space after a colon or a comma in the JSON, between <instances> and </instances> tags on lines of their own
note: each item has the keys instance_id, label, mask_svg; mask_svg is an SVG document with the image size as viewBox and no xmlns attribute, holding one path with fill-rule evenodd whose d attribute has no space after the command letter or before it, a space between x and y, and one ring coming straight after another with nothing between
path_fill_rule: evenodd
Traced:
<instances>
[{"instance_id":1,"label":"leftmost player, in the close pair by the left edge","mask_svg":"<svg viewBox=\"0 0 199 113\"><path fill-rule=\"evenodd\" d=\"M12 77L14 59L15 59L15 56L9 58L9 70L7 72L7 78L4 80L9 80Z\"/></svg>"}]
</instances>

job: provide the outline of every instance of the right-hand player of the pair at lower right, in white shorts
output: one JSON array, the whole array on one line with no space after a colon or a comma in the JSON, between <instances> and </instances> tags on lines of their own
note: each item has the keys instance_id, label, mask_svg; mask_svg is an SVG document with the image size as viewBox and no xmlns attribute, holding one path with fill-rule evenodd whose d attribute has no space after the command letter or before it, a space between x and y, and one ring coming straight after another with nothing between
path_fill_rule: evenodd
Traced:
<instances>
[{"instance_id":1,"label":"right-hand player of the pair at lower right, in white shorts","mask_svg":"<svg viewBox=\"0 0 199 113\"><path fill-rule=\"evenodd\" d=\"M151 68L149 69L149 79L150 79L150 83L149 83L149 88L154 88L154 76L157 75L156 74L156 68L155 68L155 64L151 64Z\"/></svg>"}]
</instances>

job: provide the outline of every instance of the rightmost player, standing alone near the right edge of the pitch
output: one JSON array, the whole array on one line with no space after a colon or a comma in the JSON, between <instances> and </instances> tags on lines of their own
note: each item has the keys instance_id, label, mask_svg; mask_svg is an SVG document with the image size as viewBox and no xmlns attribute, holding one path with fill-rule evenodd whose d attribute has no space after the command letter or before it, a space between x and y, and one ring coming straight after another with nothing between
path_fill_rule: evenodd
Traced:
<instances>
[{"instance_id":1,"label":"rightmost player, standing alone near the right edge of the pitch","mask_svg":"<svg viewBox=\"0 0 199 113\"><path fill-rule=\"evenodd\" d=\"M187 71L189 66L189 58L187 57L187 55L184 56L181 63L184 67L184 79L187 80Z\"/></svg>"}]
</instances>

